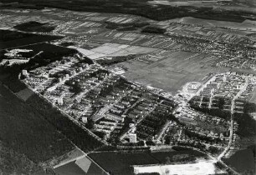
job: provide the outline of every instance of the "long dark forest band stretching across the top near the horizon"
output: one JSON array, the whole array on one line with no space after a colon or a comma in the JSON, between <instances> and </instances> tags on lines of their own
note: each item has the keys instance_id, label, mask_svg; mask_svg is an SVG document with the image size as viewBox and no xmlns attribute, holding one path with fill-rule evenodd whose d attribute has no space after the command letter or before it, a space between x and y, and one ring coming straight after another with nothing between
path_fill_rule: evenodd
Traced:
<instances>
[{"instance_id":1,"label":"long dark forest band stretching across the top near the horizon","mask_svg":"<svg viewBox=\"0 0 256 175\"><path fill-rule=\"evenodd\" d=\"M27 6L28 8L58 7L75 11L135 14L146 18L152 18L154 20L195 17L241 23L247 18L252 18L252 16L246 12L225 10L220 12L218 9L213 7L152 6L147 3L147 0L3 0L3 2L20 2L19 4L5 5L5 8L12 6Z\"/></svg>"}]
</instances>

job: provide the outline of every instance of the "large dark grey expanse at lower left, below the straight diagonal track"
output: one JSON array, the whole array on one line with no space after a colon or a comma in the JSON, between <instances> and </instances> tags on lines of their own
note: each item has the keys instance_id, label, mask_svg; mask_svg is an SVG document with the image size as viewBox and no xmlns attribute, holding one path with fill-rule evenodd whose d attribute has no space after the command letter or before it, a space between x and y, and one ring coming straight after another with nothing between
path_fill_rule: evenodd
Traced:
<instances>
[{"instance_id":1,"label":"large dark grey expanse at lower left, below the straight diagonal track","mask_svg":"<svg viewBox=\"0 0 256 175\"><path fill-rule=\"evenodd\" d=\"M0 140L34 163L71 151L69 141L45 121L33 107L0 85Z\"/></svg>"}]
</instances>

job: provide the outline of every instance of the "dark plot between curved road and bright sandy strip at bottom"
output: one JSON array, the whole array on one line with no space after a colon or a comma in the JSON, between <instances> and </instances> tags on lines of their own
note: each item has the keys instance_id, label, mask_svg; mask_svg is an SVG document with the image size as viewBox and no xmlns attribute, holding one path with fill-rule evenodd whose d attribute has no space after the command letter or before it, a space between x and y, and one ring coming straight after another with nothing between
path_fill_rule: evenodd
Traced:
<instances>
[{"instance_id":1,"label":"dark plot between curved road and bright sandy strip at bottom","mask_svg":"<svg viewBox=\"0 0 256 175\"><path fill-rule=\"evenodd\" d=\"M173 156L186 153L188 157L202 157L202 153L193 150L186 151L169 151L169 152L137 152L137 153L122 153L122 152L102 152L90 153L89 157L98 163L102 168L113 174L132 174L133 168L131 165L149 165L149 164L165 164L166 157L172 160Z\"/></svg>"}]
</instances>

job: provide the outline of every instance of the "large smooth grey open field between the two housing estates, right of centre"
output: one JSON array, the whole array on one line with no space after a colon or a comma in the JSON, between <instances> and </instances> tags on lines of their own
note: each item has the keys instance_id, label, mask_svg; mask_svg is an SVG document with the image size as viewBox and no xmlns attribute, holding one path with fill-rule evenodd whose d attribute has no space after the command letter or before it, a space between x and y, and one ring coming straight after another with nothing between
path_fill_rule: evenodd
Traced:
<instances>
[{"instance_id":1,"label":"large smooth grey open field between the two housing estates, right of centre","mask_svg":"<svg viewBox=\"0 0 256 175\"><path fill-rule=\"evenodd\" d=\"M203 82L208 73L218 72L218 67L211 67L211 56L197 55L194 52L170 52L156 62L122 62L128 68L125 77L168 92L177 92L186 82ZM222 68L220 72L228 71Z\"/></svg>"}]
</instances>

